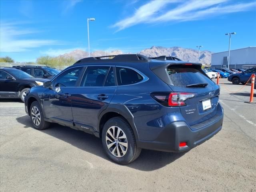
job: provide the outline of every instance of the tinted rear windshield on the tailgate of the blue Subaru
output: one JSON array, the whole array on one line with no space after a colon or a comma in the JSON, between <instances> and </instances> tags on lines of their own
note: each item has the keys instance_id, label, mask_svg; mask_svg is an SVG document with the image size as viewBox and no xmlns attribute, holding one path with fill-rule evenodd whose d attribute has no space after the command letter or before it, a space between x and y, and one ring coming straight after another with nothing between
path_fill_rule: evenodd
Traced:
<instances>
[{"instance_id":1,"label":"tinted rear windshield on the tailgate of the blue Subaru","mask_svg":"<svg viewBox=\"0 0 256 192\"><path fill-rule=\"evenodd\" d=\"M190 84L208 83L214 85L214 82L195 68L176 68L168 67L167 72L172 84L178 87L186 87Z\"/></svg>"}]
</instances>

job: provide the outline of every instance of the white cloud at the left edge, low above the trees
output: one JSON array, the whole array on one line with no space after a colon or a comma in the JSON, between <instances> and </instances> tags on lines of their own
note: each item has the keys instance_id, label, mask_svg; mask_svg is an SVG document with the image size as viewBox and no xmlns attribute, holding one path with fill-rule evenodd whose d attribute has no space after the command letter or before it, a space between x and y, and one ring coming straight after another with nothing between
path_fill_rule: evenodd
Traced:
<instances>
[{"instance_id":1,"label":"white cloud at the left edge, low above the trees","mask_svg":"<svg viewBox=\"0 0 256 192\"><path fill-rule=\"evenodd\" d=\"M0 25L0 52L23 52L30 48L45 45L56 45L56 40L28 39L22 36L37 33L36 30L18 28L12 24L1 22Z\"/></svg>"}]
</instances>

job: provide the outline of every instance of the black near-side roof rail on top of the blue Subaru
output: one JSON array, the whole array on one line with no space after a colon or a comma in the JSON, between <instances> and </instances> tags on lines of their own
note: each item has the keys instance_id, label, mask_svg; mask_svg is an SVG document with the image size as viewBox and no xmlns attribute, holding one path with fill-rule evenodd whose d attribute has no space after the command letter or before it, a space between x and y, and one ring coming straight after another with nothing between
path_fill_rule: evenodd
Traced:
<instances>
[{"instance_id":1,"label":"black near-side roof rail on top of the blue Subaru","mask_svg":"<svg viewBox=\"0 0 256 192\"><path fill-rule=\"evenodd\" d=\"M108 59L101 59L101 58ZM112 58L113 57L113 58ZM99 56L99 57L88 57L78 60L75 64L85 63L85 62L106 62L106 61L128 61L128 62L148 62L149 59L140 54L121 54L121 55L108 55L108 56Z\"/></svg>"}]
</instances>

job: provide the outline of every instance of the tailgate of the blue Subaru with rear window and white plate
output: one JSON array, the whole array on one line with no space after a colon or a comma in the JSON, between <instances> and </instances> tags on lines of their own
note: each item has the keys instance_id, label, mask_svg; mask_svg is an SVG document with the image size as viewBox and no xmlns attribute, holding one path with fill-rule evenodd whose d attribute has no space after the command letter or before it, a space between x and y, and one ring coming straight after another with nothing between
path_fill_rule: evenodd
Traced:
<instances>
[{"instance_id":1,"label":"tailgate of the blue Subaru with rear window and white plate","mask_svg":"<svg viewBox=\"0 0 256 192\"><path fill-rule=\"evenodd\" d=\"M182 116L192 126L216 115L219 86L206 77L203 72L191 66L169 66L167 68L174 92L194 94L180 106Z\"/></svg>"}]
</instances>

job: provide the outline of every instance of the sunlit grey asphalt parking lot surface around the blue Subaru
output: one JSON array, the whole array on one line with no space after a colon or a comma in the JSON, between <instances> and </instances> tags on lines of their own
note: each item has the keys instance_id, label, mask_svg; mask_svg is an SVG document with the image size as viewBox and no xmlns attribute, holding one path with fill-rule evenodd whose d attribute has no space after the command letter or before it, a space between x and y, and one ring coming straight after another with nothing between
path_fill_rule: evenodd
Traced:
<instances>
[{"instance_id":1,"label":"sunlit grey asphalt parking lot surface around the blue Subaru","mask_svg":"<svg viewBox=\"0 0 256 192\"><path fill-rule=\"evenodd\" d=\"M126 166L108 160L101 140L52 124L32 128L24 104L0 101L1 192L243 191L256 189L256 94L220 79L222 130L182 154L142 150ZM228 90L226 90L228 89Z\"/></svg>"}]
</instances>

